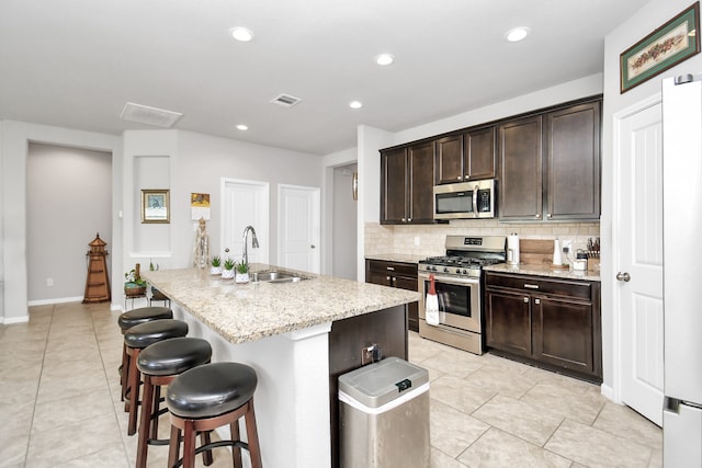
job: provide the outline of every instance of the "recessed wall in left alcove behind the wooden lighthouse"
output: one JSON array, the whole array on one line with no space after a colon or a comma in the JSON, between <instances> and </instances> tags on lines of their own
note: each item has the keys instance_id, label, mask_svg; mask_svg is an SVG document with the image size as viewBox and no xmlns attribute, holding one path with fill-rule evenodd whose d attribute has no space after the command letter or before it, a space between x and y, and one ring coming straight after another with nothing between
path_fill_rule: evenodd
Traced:
<instances>
[{"instance_id":1,"label":"recessed wall in left alcove behind the wooden lighthouse","mask_svg":"<svg viewBox=\"0 0 702 468\"><path fill-rule=\"evenodd\" d=\"M112 251L112 155L30 144L26 187L29 301L82 300L88 243Z\"/></svg>"}]
</instances>

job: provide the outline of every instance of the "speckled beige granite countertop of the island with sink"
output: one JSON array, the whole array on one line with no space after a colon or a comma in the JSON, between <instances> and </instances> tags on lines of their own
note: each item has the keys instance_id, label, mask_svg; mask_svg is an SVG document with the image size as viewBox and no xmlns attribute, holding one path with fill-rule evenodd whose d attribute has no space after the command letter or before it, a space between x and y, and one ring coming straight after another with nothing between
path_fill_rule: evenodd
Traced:
<instances>
[{"instance_id":1,"label":"speckled beige granite countertop of the island with sink","mask_svg":"<svg viewBox=\"0 0 702 468\"><path fill-rule=\"evenodd\" d=\"M253 264L251 271L291 271ZM238 344L419 300L416 292L302 273L295 283L223 279L210 270L143 272L173 303Z\"/></svg>"}]
</instances>

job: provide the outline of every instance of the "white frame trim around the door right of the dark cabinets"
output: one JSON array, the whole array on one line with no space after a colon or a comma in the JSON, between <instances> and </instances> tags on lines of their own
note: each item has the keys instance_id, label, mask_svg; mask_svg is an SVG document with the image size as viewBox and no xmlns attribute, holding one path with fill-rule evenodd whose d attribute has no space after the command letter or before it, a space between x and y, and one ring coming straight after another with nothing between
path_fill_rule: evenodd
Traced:
<instances>
[{"instance_id":1,"label":"white frame trim around the door right of the dark cabinets","mask_svg":"<svg viewBox=\"0 0 702 468\"><path fill-rule=\"evenodd\" d=\"M645 98L629 107L621 110L612 116L612 244L611 244L611 264L609 275L603 277L609 278L610 290L612 292L612 388L605 388L602 386L602 393L610 398L612 401L623 404L622 402L622 312L620 310L621 303L621 288L618 287L618 279L615 273L621 271L619 264L619 256L615 252L622 249L621 242L621 221L619 217L619 207L621 203L621 185L616 183L622 175L622 155L620 152L622 141L622 122L644 110L663 102L663 95L657 92L648 98Z\"/></svg>"}]
</instances>

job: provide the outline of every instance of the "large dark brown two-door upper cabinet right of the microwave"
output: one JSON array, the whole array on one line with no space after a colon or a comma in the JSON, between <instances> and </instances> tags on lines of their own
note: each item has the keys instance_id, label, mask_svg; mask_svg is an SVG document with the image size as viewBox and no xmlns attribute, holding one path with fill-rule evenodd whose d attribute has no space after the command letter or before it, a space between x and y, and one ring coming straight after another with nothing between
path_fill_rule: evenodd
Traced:
<instances>
[{"instance_id":1,"label":"large dark brown two-door upper cabinet right of the microwave","mask_svg":"<svg viewBox=\"0 0 702 468\"><path fill-rule=\"evenodd\" d=\"M600 101L498 126L500 219L600 217Z\"/></svg>"}]
</instances>

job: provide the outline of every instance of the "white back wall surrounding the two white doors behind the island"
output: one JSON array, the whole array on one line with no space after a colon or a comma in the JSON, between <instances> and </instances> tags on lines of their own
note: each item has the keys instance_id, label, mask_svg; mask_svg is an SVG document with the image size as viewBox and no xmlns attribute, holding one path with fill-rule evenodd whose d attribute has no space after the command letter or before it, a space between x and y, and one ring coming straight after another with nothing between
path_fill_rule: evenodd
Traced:
<instances>
[{"instance_id":1,"label":"white back wall surrounding the two white doors behind the island","mask_svg":"<svg viewBox=\"0 0 702 468\"><path fill-rule=\"evenodd\" d=\"M125 179L125 259L124 269L135 262L148 265L149 259L165 269L189 267L196 221L190 219L190 194L208 193L212 218L207 222L210 251L220 250L220 180L231 178L269 182L271 191L278 184L322 186L322 160L318 156L280 148L252 145L244 141L213 137L181 130L139 130L124 134ZM139 158L161 158L168 161L162 174L141 175L133 171ZM138 181L141 182L138 182ZM137 184L163 184L170 190L171 220L168 225L141 225ZM324 190L322 190L322 197ZM278 195L270 194L270 232L268 246L270 262L278 261ZM322 224L326 222L322 219ZM149 230L145 235L145 230ZM149 244L144 248L144 239Z\"/></svg>"}]
</instances>

